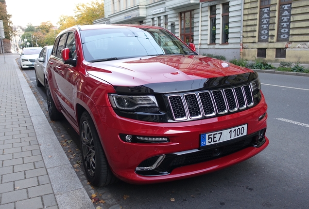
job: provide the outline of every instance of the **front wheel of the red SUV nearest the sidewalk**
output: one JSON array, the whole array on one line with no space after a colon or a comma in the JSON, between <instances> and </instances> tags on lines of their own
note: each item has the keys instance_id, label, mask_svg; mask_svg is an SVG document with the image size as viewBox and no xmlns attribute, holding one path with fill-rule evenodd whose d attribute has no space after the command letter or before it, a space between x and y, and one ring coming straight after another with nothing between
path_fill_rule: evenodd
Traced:
<instances>
[{"instance_id":1,"label":"front wheel of the red SUV nearest the sidewalk","mask_svg":"<svg viewBox=\"0 0 309 209\"><path fill-rule=\"evenodd\" d=\"M99 135L88 112L81 116L80 143L87 179L94 186L102 187L117 181L103 151Z\"/></svg>"}]
</instances>

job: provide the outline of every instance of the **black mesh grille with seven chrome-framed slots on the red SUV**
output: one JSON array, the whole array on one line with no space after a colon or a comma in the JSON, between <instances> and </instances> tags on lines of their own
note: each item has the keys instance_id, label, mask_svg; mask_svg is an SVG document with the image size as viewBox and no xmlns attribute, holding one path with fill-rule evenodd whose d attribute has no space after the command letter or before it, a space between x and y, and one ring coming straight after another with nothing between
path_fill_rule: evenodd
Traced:
<instances>
[{"instance_id":1,"label":"black mesh grille with seven chrome-framed slots on the red SUV","mask_svg":"<svg viewBox=\"0 0 309 209\"><path fill-rule=\"evenodd\" d=\"M177 121L223 115L253 106L249 85L168 96Z\"/></svg>"}]
</instances>

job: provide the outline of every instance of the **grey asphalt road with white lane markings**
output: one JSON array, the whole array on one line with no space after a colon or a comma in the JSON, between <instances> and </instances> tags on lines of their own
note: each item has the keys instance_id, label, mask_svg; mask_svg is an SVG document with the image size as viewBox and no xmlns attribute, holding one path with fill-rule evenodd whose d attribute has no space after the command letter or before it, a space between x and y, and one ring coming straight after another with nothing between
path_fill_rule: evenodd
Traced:
<instances>
[{"instance_id":1,"label":"grey asphalt road with white lane markings","mask_svg":"<svg viewBox=\"0 0 309 209\"><path fill-rule=\"evenodd\" d=\"M34 70L24 72L36 86ZM196 178L153 185L120 181L96 191L122 209L308 209L309 77L259 76L270 139L261 153Z\"/></svg>"}]
</instances>

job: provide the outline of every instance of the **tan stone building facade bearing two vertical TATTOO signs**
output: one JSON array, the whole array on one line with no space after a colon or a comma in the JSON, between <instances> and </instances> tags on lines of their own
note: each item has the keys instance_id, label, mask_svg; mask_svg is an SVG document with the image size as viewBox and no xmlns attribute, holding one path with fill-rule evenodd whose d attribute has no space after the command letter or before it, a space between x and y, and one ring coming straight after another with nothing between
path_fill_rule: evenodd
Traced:
<instances>
[{"instance_id":1,"label":"tan stone building facade bearing two vertical TATTOO signs","mask_svg":"<svg viewBox=\"0 0 309 209\"><path fill-rule=\"evenodd\" d=\"M245 0L242 57L309 63L308 20L308 0Z\"/></svg>"}]
</instances>

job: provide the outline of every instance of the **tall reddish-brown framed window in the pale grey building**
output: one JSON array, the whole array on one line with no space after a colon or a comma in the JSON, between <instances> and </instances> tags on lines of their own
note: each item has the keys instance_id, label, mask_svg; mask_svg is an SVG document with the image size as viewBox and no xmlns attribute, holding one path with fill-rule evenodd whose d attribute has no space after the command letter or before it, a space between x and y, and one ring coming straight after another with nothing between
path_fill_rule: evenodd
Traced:
<instances>
[{"instance_id":1,"label":"tall reddish-brown framed window in the pale grey building","mask_svg":"<svg viewBox=\"0 0 309 209\"><path fill-rule=\"evenodd\" d=\"M180 37L185 43L193 43L193 11L180 13L181 25L180 25Z\"/></svg>"}]
</instances>

